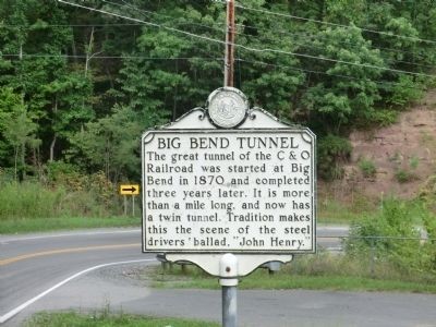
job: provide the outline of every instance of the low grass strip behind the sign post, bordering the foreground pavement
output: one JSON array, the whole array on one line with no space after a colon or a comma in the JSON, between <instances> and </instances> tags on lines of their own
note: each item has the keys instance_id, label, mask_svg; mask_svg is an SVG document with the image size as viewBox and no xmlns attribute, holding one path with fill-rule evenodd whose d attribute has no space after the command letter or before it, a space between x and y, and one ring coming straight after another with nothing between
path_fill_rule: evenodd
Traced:
<instances>
[{"instance_id":1,"label":"low grass strip behind the sign post, bordering the foreground pavement","mask_svg":"<svg viewBox=\"0 0 436 327\"><path fill-rule=\"evenodd\" d=\"M436 276L407 275L387 264L378 264L374 271L368 263L329 254L295 259L280 271L269 275L257 269L240 279L240 289L262 290L335 290L335 291L399 291L436 293ZM210 277L195 266L174 265L171 270L161 267L144 271L156 288L219 289L217 277ZM145 277L144 277L145 278Z\"/></svg>"}]
</instances>

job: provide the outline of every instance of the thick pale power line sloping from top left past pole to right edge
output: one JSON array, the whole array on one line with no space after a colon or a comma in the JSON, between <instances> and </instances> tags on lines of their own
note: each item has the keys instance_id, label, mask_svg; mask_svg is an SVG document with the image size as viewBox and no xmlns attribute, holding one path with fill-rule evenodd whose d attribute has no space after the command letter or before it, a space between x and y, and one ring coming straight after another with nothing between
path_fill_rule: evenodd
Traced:
<instances>
[{"instance_id":1,"label":"thick pale power line sloping from top left past pole to right edge","mask_svg":"<svg viewBox=\"0 0 436 327\"><path fill-rule=\"evenodd\" d=\"M133 19L133 17L121 15L121 14L107 12L107 11L104 11L104 10L100 10L100 9L95 9L95 8L92 8L92 7L77 4L77 3L71 3L71 2L68 2L68 1L64 1L64 0L58 0L58 1L62 2L62 3L65 3L65 4L69 4L69 5L73 5L73 7L77 7L77 8L82 8L82 9L87 9L87 10L95 11L95 12L100 12L100 13L112 15L112 16L116 16L116 17L121 17L121 19L124 19L124 20L130 20L130 21L134 21L134 22L138 22L138 23L144 23L145 25L149 25L149 26L154 26L154 27L158 27L158 28L164 28L164 29L167 29L167 31L170 31L170 32L175 32L175 33L183 34L183 35L186 35L186 36L199 38L199 39L203 39L203 40L206 40L206 41L220 44L220 45L226 45L226 41L222 41L222 40L218 40L218 39L215 39L215 38L211 38L211 37L207 37L207 36L203 36L203 35L197 35L197 34L194 34L194 33L190 33L190 32L178 29L178 28L173 28L173 27L168 27L168 26L165 26L165 25L161 25L161 24L146 22L146 21L142 21L142 20L138 20L138 19ZM332 59L332 58L316 57L316 56L306 55L306 53L296 53L296 52L283 51L283 50L277 50L277 49L269 49L269 48L257 49L257 48L242 46L242 45L239 45L239 44L234 44L234 46L238 47L238 48L242 48L242 49L245 49L245 50L249 50L249 51L259 52L259 53L261 52L271 52L271 53L279 53L279 55L287 55L287 56L295 56L295 57L302 57L302 58L314 59L314 60L323 60L323 61L327 61L327 62L336 62L336 63L350 64L350 65L362 66L362 68L367 68L367 69L389 71L389 72L399 73L399 74L410 74L410 75L415 75L415 76L424 76L424 77L435 77L436 76L436 75L424 74L424 73L415 73L415 72L409 72L409 71L403 71L403 70L389 69L389 68L384 68L384 66L378 66L378 65L373 65L373 64L367 64L367 63L349 62L349 61L337 60L337 59Z\"/></svg>"}]
</instances>

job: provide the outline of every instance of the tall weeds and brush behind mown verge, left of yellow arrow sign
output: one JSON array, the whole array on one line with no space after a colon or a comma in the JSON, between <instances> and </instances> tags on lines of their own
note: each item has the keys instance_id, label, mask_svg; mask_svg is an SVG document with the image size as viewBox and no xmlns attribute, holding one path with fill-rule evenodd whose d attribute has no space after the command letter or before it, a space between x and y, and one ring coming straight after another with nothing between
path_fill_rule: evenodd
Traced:
<instances>
[{"instance_id":1,"label":"tall weeds and brush behind mown verge, left of yellow arrow sign","mask_svg":"<svg viewBox=\"0 0 436 327\"><path fill-rule=\"evenodd\" d=\"M117 187L105 173L83 174L73 166L51 162L45 183L10 181L0 171L0 220L119 215Z\"/></svg>"}]
</instances>

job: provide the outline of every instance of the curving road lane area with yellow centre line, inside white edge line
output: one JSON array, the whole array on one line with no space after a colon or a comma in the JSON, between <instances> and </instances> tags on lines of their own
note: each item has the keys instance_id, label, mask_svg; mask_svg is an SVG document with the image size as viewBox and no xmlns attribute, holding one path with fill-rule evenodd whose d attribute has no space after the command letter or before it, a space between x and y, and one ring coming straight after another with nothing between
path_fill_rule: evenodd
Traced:
<instances>
[{"instance_id":1,"label":"curving road lane area with yellow centre line, inside white edge line","mask_svg":"<svg viewBox=\"0 0 436 327\"><path fill-rule=\"evenodd\" d=\"M74 274L102 264L152 258L140 230L0 237L0 323L26 301Z\"/></svg>"}]
</instances>

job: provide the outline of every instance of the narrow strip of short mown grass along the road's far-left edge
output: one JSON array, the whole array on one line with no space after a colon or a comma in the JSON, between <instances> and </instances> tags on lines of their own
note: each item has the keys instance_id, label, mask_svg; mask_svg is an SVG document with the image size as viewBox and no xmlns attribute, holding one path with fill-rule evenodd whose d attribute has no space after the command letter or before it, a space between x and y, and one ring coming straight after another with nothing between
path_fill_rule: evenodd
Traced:
<instances>
[{"instance_id":1,"label":"narrow strip of short mown grass along the road's far-left edge","mask_svg":"<svg viewBox=\"0 0 436 327\"><path fill-rule=\"evenodd\" d=\"M27 233L55 230L140 227L138 217L58 217L58 218L13 218L0 220L0 234Z\"/></svg>"}]
</instances>

